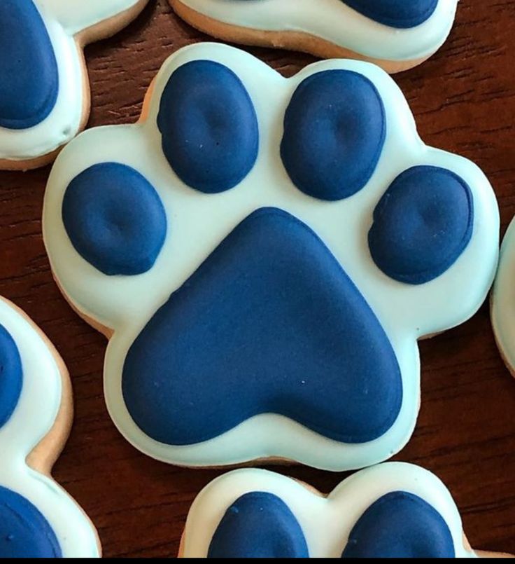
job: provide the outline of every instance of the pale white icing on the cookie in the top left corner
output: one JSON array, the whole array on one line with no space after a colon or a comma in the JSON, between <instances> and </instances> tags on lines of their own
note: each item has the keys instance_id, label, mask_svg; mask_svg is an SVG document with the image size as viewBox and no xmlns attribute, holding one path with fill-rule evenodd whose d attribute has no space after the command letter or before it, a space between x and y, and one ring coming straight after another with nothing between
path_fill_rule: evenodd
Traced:
<instances>
[{"instance_id":1,"label":"pale white icing on the cookie in the top left corner","mask_svg":"<svg viewBox=\"0 0 515 564\"><path fill-rule=\"evenodd\" d=\"M68 143L80 129L85 106L83 55L74 34L139 0L34 0L50 36L57 69L59 92L50 114L38 125L24 130L0 128L0 160L38 158ZM73 4L73 6L71 6Z\"/></svg>"}]
</instances>

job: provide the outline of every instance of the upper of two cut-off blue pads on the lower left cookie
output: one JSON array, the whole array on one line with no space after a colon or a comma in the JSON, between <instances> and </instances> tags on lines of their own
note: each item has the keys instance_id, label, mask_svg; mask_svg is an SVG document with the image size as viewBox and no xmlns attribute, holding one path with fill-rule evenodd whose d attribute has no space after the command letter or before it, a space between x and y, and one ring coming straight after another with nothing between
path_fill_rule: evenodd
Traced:
<instances>
[{"instance_id":1,"label":"upper of two cut-off blue pads on the lower left cookie","mask_svg":"<svg viewBox=\"0 0 515 564\"><path fill-rule=\"evenodd\" d=\"M0 428L13 415L22 393L22 359L16 343L0 325Z\"/></svg>"}]
</instances>

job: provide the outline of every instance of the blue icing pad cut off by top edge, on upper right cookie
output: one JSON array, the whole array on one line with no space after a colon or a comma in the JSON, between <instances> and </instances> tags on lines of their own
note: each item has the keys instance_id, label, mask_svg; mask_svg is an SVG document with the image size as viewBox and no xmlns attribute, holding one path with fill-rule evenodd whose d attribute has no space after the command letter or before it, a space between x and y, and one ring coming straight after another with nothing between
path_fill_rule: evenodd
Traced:
<instances>
[{"instance_id":1,"label":"blue icing pad cut off by top edge, on upper right cookie","mask_svg":"<svg viewBox=\"0 0 515 564\"><path fill-rule=\"evenodd\" d=\"M390 27L415 27L428 20L438 0L343 0L347 6Z\"/></svg>"}]
</instances>

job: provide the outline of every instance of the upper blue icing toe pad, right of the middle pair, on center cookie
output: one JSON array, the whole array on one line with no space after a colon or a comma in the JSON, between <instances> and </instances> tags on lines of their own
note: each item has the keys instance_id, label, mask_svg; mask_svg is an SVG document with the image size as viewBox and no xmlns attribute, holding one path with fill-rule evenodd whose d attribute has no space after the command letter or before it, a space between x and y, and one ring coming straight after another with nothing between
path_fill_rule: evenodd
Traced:
<instances>
[{"instance_id":1,"label":"upper blue icing toe pad, right of the middle pair, on center cookie","mask_svg":"<svg viewBox=\"0 0 515 564\"><path fill-rule=\"evenodd\" d=\"M386 135L376 87L353 71L323 71L295 91L281 157L292 182L320 200L342 200L369 181Z\"/></svg>"}]
</instances>

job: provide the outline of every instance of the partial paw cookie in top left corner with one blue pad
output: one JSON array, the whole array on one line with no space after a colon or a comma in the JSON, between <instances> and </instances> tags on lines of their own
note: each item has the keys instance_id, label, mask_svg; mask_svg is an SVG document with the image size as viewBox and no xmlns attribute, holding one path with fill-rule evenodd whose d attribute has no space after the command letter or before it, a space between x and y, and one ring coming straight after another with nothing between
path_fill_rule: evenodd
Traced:
<instances>
[{"instance_id":1,"label":"partial paw cookie in top left corner with one blue pad","mask_svg":"<svg viewBox=\"0 0 515 564\"><path fill-rule=\"evenodd\" d=\"M1 0L0 170L52 161L84 128L82 49L131 22L148 0Z\"/></svg>"}]
</instances>

